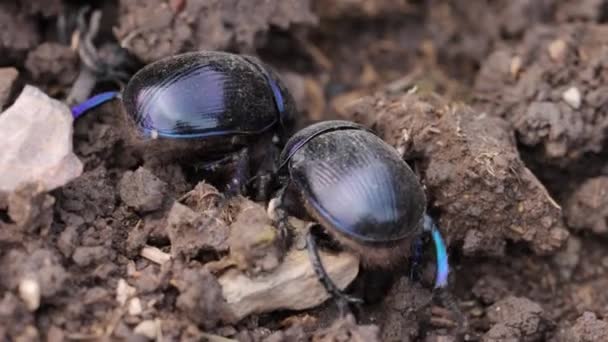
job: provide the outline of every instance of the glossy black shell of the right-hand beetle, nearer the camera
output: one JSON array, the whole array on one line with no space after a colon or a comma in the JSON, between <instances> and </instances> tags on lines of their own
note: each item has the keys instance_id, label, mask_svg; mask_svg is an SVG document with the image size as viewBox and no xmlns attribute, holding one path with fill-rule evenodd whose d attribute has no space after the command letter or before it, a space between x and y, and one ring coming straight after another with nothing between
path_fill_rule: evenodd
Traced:
<instances>
[{"instance_id":1,"label":"glossy black shell of the right-hand beetle, nearer the camera","mask_svg":"<svg viewBox=\"0 0 608 342\"><path fill-rule=\"evenodd\" d=\"M281 154L313 217L364 242L418 232L426 198L399 153L362 126L325 121L294 135Z\"/></svg>"}]
</instances>

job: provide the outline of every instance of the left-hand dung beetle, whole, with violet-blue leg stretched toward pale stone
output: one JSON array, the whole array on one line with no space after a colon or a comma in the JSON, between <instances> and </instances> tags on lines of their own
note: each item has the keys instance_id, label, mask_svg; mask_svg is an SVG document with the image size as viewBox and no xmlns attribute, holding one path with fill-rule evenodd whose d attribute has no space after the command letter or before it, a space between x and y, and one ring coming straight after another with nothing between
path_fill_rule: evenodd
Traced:
<instances>
[{"instance_id":1,"label":"left-hand dung beetle, whole, with violet-blue leg stretched toward pale stone","mask_svg":"<svg viewBox=\"0 0 608 342\"><path fill-rule=\"evenodd\" d=\"M261 165L274 163L296 113L287 88L261 61L216 51L149 64L122 94L96 95L74 106L72 115L77 118L113 99L122 100L135 140L159 159L204 160L208 170L230 164L236 171L228 187L237 192L252 169L261 183L271 179L263 177Z\"/></svg>"}]
</instances>

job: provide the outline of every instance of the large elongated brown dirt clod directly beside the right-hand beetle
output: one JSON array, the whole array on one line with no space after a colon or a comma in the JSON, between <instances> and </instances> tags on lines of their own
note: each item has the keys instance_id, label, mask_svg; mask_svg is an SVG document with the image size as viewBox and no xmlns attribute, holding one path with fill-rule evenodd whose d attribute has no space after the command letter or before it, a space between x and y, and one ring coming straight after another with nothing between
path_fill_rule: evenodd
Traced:
<instances>
[{"instance_id":1,"label":"large elongated brown dirt clod directly beside the right-hand beetle","mask_svg":"<svg viewBox=\"0 0 608 342\"><path fill-rule=\"evenodd\" d=\"M464 240L466 254L501 255L505 239L546 254L566 241L561 208L519 158L507 122L416 94L366 97L344 114L422 160L440 226L450 242Z\"/></svg>"}]
</instances>

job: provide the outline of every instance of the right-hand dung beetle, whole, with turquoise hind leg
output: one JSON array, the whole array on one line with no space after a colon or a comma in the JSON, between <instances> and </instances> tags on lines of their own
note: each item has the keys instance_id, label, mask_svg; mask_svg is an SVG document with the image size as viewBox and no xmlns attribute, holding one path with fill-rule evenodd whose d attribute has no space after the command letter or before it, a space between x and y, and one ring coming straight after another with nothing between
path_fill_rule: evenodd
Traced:
<instances>
[{"instance_id":1,"label":"right-hand dung beetle, whole, with turquoise hind leg","mask_svg":"<svg viewBox=\"0 0 608 342\"><path fill-rule=\"evenodd\" d=\"M308 126L286 143L278 172L284 185L271 202L271 210L281 236L287 236L290 229L288 199L303 207L330 237L371 268L394 269L411 255L412 242L421 241L426 233L435 246L435 289L446 288L446 246L426 214L422 186L397 150L370 130L340 120ZM315 235L315 230L309 229L307 247L325 289L339 304L360 302L344 294L328 277Z\"/></svg>"}]
</instances>

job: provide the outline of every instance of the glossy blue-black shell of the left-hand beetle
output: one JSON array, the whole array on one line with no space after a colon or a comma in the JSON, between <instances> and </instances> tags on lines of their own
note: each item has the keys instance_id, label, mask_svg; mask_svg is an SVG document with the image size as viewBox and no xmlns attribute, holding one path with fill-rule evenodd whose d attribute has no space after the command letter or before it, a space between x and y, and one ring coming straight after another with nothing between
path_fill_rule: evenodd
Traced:
<instances>
[{"instance_id":1,"label":"glossy blue-black shell of the left-hand beetle","mask_svg":"<svg viewBox=\"0 0 608 342\"><path fill-rule=\"evenodd\" d=\"M147 65L123 93L127 115L144 136L255 135L289 125L293 98L259 60L193 52Z\"/></svg>"}]
</instances>

